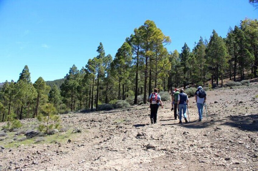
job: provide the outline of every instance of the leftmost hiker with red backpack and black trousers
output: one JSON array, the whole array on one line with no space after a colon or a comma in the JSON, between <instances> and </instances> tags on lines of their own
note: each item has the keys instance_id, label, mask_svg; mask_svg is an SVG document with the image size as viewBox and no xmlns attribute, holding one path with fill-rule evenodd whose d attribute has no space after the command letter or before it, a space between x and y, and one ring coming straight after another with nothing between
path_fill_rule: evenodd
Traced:
<instances>
[{"instance_id":1,"label":"leftmost hiker with red backpack and black trousers","mask_svg":"<svg viewBox=\"0 0 258 171\"><path fill-rule=\"evenodd\" d=\"M161 97L157 94L158 89L154 88L154 92L149 96L150 108L151 108L151 123L157 123L157 113L159 104L161 104L161 108L163 109L163 104L161 101Z\"/></svg>"}]
</instances>

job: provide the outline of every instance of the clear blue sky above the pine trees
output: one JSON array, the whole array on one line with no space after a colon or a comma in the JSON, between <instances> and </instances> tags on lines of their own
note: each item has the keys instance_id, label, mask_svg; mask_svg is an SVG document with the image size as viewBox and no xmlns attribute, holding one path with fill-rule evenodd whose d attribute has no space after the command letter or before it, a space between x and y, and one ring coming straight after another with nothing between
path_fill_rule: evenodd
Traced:
<instances>
[{"instance_id":1,"label":"clear blue sky above the pine trees","mask_svg":"<svg viewBox=\"0 0 258 171\"><path fill-rule=\"evenodd\" d=\"M169 51L190 49L212 30L225 37L246 17L258 17L248 0L0 0L0 82L17 81L28 65L31 81L63 78L75 64L117 49L134 28L153 20L170 36Z\"/></svg>"}]
</instances>

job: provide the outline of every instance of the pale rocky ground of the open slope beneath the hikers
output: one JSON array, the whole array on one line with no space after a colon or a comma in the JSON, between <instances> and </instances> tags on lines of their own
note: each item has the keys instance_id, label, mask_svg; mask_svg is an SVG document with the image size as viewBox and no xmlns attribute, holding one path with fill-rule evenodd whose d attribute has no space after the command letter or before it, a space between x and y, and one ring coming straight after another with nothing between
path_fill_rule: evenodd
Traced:
<instances>
[{"instance_id":1,"label":"pale rocky ground of the open slope beneath the hikers","mask_svg":"<svg viewBox=\"0 0 258 171\"><path fill-rule=\"evenodd\" d=\"M208 117L201 122L191 97L187 124L173 119L170 102L156 124L148 105L65 114L62 125L82 133L58 133L51 143L0 143L1 169L258 170L257 94L257 82L207 91Z\"/></svg>"}]
</instances>

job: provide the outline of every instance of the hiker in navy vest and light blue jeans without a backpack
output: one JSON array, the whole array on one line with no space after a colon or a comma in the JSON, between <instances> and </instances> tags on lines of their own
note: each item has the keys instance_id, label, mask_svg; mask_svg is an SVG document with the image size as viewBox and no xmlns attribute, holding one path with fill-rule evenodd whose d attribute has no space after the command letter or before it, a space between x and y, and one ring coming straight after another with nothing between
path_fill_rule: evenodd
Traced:
<instances>
[{"instance_id":1,"label":"hiker in navy vest and light blue jeans without a backpack","mask_svg":"<svg viewBox=\"0 0 258 171\"><path fill-rule=\"evenodd\" d=\"M177 108L179 109L179 123L182 123L182 110L183 110L183 115L185 119L185 123L187 123L187 118L186 118L186 108L188 105L189 99L187 94L184 93L184 89L182 88L180 90L180 94L178 95L177 99Z\"/></svg>"}]
</instances>

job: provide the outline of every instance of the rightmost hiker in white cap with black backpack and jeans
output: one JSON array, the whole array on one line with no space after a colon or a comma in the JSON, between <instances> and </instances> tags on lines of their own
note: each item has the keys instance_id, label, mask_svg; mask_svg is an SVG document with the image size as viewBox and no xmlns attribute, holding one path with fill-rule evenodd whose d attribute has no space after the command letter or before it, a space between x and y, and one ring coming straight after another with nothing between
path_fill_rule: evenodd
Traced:
<instances>
[{"instance_id":1,"label":"rightmost hiker in white cap with black backpack and jeans","mask_svg":"<svg viewBox=\"0 0 258 171\"><path fill-rule=\"evenodd\" d=\"M198 121L201 121L202 114L203 114L203 106L206 101L206 92L204 91L204 89L201 86L199 86L198 89L196 90L194 96L195 96L195 102L197 104L198 113L199 113Z\"/></svg>"}]
</instances>

